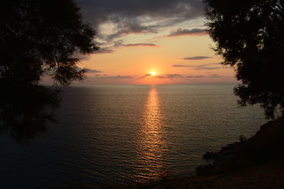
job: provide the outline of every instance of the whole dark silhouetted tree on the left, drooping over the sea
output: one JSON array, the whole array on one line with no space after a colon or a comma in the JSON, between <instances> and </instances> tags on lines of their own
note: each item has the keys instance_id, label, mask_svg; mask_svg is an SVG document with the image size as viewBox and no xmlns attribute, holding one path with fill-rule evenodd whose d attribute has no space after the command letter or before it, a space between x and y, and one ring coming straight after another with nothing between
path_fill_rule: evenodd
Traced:
<instances>
[{"instance_id":1,"label":"whole dark silhouetted tree on the left, drooping over the sea","mask_svg":"<svg viewBox=\"0 0 284 189\"><path fill-rule=\"evenodd\" d=\"M54 88L84 78L79 56L98 50L94 30L72 0L13 0L0 6L0 134L25 143L46 130L60 103Z\"/></svg>"}]
</instances>

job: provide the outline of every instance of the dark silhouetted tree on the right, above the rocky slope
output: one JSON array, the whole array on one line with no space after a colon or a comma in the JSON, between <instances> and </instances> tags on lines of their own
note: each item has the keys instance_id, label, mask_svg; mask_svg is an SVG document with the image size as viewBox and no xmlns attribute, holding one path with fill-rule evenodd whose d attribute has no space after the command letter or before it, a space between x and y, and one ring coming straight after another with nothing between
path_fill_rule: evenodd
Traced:
<instances>
[{"instance_id":1,"label":"dark silhouetted tree on the right, above the rocky slope","mask_svg":"<svg viewBox=\"0 0 284 189\"><path fill-rule=\"evenodd\" d=\"M284 1L204 0L207 27L222 64L236 68L242 106L260 103L266 118L284 114Z\"/></svg>"}]
</instances>

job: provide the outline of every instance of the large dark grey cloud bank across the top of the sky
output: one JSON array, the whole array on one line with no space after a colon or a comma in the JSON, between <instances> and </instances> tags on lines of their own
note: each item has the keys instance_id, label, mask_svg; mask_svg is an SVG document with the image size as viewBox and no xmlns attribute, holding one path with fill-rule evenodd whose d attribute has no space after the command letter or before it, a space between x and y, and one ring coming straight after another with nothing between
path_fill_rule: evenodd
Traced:
<instances>
[{"instance_id":1,"label":"large dark grey cloud bank across the top of the sky","mask_svg":"<svg viewBox=\"0 0 284 189\"><path fill-rule=\"evenodd\" d=\"M173 26L203 16L201 0L77 0L84 18L99 30L103 23L114 25L114 33L98 36L114 40L129 33L156 33L160 28Z\"/></svg>"}]
</instances>

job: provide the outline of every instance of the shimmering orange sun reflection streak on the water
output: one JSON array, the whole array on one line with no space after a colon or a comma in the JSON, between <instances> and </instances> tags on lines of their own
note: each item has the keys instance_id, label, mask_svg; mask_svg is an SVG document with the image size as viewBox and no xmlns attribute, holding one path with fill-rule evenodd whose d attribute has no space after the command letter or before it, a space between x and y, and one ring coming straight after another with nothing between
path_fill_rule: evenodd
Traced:
<instances>
[{"instance_id":1,"label":"shimmering orange sun reflection streak on the water","mask_svg":"<svg viewBox=\"0 0 284 189\"><path fill-rule=\"evenodd\" d=\"M143 127L139 131L138 176L145 179L160 178L165 175L165 131L163 115L160 112L158 91L152 86L143 111Z\"/></svg>"}]
</instances>

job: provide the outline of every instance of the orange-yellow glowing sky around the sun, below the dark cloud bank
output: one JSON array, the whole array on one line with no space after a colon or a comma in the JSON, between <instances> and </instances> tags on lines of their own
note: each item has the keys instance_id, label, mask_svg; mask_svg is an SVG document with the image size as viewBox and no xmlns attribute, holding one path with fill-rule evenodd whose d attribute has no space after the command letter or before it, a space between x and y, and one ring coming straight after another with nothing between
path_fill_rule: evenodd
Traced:
<instances>
[{"instance_id":1,"label":"orange-yellow glowing sky around the sun, below the dark cloud bank","mask_svg":"<svg viewBox=\"0 0 284 189\"><path fill-rule=\"evenodd\" d=\"M132 36L132 35L131 35ZM151 34L137 34L137 38L124 37L126 43L138 39L155 39L153 47L113 47L114 52L89 56L80 67L94 69L82 84L231 84L236 82L233 69L224 69L222 62L209 49L208 35L188 35L176 38L155 38ZM142 40L143 41L143 40ZM146 42L148 43L148 42ZM187 57L210 57L185 59ZM80 83L81 84L81 83Z\"/></svg>"}]
</instances>

